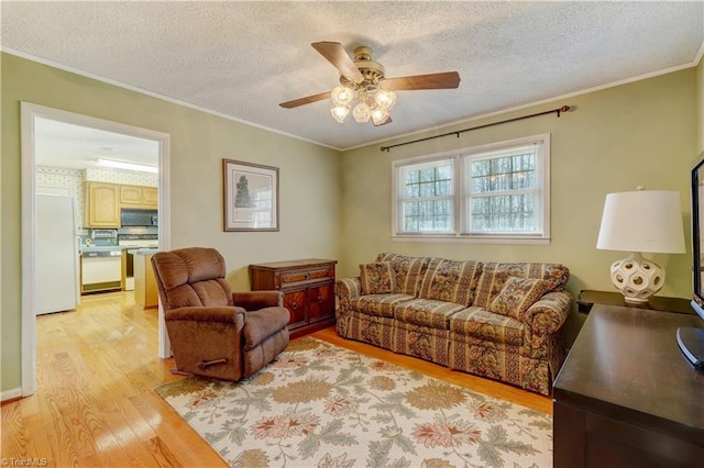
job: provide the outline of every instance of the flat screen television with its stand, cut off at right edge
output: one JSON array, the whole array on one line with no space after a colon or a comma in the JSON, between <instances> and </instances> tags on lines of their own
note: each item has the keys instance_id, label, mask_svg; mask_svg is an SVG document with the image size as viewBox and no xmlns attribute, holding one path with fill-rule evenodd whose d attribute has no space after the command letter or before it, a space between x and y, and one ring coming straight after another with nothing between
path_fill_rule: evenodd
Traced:
<instances>
[{"instance_id":1,"label":"flat screen television with its stand, cut off at right edge","mask_svg":"<svg viewBox=\"0 0 704 468\"><path fill-rule=\"evenodd\" d=\"M692 271L694 291L692 309L704 320L704 285L702 269L704 269L704 152L701 153L691 171L692 182ZM704 369L704 330L678 328L678 345L682 354L696 368Z\"/></svg>"}]
</instances>

